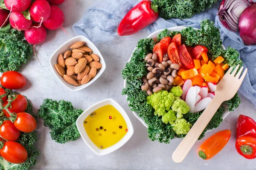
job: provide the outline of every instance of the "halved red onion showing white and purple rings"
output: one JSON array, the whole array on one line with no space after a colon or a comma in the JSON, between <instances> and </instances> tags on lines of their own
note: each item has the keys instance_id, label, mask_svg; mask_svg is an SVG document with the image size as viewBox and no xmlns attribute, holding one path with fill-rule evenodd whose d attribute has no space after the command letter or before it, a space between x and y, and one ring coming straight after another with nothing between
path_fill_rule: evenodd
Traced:
<instances>
[{"instance_id":1,"label":"halved red onion showing white and purple rings","mask_svg":"<svg viewBox=\"0 0 256 170\"><path fill-rule=\"evenodd\" d=\"M218 16L221 23L231 31L239 31L239 17L245 8L252 2L248 0L223 0L219 8Z\"/></svg>"}]
</instances>

